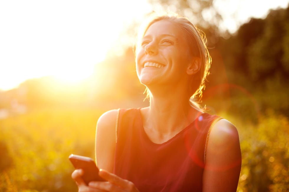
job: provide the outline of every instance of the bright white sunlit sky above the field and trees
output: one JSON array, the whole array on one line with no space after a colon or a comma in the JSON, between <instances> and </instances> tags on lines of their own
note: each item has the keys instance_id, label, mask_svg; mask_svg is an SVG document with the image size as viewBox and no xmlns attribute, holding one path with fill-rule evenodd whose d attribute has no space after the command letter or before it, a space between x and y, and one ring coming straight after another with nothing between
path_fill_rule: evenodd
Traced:
<instances>
[{"instance_id":1,"label":"bright white sunlit sky above the field and trees","mask_svg":"<svg viewBox=\"0 0 289 192\"><path fill-rule=\"evenodd\" d=\"M231 33L251 17L286 8L289 0L215 0ZM104 60L132 20L152 11L146 0L0 0L0 90L27 79L80 81ZM210 17L208 13L208 18Z\"/></svg>"}]
</instances>

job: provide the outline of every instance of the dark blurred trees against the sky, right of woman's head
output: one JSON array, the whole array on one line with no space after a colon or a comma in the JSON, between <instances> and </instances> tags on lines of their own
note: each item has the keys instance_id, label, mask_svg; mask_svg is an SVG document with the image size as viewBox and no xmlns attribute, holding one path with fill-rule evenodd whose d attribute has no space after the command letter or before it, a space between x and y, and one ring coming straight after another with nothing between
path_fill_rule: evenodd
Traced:
<instances>
[{"instance_id":1,"label":"dark blurred trees against the sky, right of woman's head","mask_svg":"<svg viewBox=\"0 0 289 192\"><path fill-rule=\"evenodd\" d=\"M229 76L229 80L249 89L277 76L284 84L288 83L288 25L289 7L271 10L265 19L251 19L243 24L236 36L221 39L217 48L224 57L229 75L238 73L246 77Z\"/></svg>"}]
</instances>

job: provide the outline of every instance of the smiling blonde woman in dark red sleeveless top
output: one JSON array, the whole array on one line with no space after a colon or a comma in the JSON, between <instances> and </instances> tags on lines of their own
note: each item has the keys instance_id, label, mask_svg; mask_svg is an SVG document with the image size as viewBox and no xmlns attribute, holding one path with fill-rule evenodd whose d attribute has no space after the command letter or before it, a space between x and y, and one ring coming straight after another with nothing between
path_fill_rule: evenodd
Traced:
<instances>
[{"instance_id":1,"label":"smiling blonde woman in dark red sleeveless top","mask_svg":"<svg viewBox=\"0 0 289 192\"><path fill-rule=\"evenodd\" d=\"M211 64L203 35L187 19L152 16L136 45L139 81L150 106L111 110L96 129L96 163L107 182L72 178L79 191L236 191L237 129L204 113L200 98Z\"/></svg>"}]
</instances>

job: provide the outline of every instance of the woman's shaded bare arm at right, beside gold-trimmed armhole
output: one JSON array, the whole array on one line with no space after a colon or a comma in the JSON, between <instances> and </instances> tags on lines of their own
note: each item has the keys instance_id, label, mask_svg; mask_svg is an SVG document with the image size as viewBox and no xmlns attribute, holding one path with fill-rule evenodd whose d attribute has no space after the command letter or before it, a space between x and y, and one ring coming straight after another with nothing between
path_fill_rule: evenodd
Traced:
<instances>
[{"instance_id":1,"label":"woman's shaded bare arm at right, beside gold-trimmed armhole","mask_svg":"<svg viewBox=\"0 0 289 192\"><path fill-rule=\"evenodd\" d=\"M236 192L241 161L238 131L232 123L221 119L212 127L209 136L203 191Z\"/></svg>"}]
</instances>

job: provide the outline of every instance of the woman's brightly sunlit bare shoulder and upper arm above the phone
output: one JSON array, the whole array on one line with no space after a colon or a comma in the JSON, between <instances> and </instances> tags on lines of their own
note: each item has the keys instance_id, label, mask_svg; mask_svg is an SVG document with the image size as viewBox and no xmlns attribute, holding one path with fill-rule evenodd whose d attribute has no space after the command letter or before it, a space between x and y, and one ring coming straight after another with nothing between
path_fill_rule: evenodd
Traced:
<instances>
[{"instance_id":1,"label":"woman's brightly sunlit bare shoulder and upper arm above the phone","mask_svg":"<svg viewBox=\"0 0 289 192\"><path fill-rule=\"evenodd\" d=\"M115 151L115 128L118 110L110 110L102 114L97 121L95 156L99 168L113 171Z\"/></svg>"}]
</instances>

